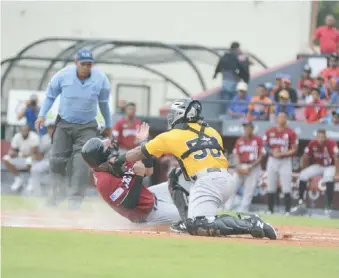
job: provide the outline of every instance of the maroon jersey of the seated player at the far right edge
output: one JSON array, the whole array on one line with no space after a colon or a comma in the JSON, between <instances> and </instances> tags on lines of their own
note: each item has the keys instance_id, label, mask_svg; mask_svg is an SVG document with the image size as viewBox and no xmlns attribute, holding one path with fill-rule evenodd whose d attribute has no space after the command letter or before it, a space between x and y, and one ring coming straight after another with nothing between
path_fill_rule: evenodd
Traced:
<instances>
[{"instance_id":1,"label":"maroon jersey of the seated player at the far right edge","mask_svg":"<svg viewBox=\"0 0 339 278\"><path fill-rule=\"evenodd\" d=\"M339 150L334 140L327 139L321 146L317 140L311 140L305 148L307 154L315 164L323 166L334 165L334 157L338 156Z\"/></svg>"}]
</instances>

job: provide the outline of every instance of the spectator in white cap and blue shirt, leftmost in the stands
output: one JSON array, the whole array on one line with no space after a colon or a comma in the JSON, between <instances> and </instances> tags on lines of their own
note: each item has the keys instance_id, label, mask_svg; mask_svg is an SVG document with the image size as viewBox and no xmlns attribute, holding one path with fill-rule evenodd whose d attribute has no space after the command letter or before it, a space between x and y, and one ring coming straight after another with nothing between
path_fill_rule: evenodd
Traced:
<instances>
[{"instance_id":1,"label":"spectator in white cap and blue shirt, leftmost in the stands","mask_svg":"<svg viewBox=\"0 0 339 278\"><path fill-rule=\"evenodd\" d=\"M227 115L232 119L245 118L248 112L248 103L251 98L247 95L248 86L245 82L237 84L238 94L232 99Z\"/></svg>"}]
</instances>

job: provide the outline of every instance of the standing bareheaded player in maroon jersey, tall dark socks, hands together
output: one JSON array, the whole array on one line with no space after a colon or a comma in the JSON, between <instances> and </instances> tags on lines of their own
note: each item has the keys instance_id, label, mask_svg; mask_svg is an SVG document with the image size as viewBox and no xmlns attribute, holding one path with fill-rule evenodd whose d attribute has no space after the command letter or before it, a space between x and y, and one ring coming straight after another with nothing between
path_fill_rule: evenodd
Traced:
<instances>
[{"instance_id":1,"label":"standing bareheaded player in maroon jersey, tall dark socks, hands together","mask_svg":"<svg viewBox=\"0 0 339 278\"><path fill-rule=\"evenodd\" d=\"M286 113L279 113L278 126L269 128L264 135L264 145L269 155L267 162L268 210L274 213L278 181L284 193L285 214L291 209L292 157L298 148L296 133L287 126Z\"/></svg>"}]
</instances>

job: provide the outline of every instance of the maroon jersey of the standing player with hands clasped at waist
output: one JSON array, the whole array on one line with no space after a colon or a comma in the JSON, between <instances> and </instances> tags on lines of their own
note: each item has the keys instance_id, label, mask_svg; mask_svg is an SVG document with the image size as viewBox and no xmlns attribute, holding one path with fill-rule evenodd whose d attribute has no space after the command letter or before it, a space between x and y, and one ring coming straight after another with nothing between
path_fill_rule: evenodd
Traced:
<instances>
[{"instance_id":1,"label":"maroon jersey of the standing player with hands clasped at waist","mask_svg":"<svg viewBox=\"0 0 339 278\"><path fill-rule=\"evenodd\" d=\"M264 144L268 145L272 151L278 149L285 153L292 149L292 146L298 145L298 138L294 130L289 127L283 131L279 131L278 127L271 127L265 132Z\"/></svg>"}]
</instances>

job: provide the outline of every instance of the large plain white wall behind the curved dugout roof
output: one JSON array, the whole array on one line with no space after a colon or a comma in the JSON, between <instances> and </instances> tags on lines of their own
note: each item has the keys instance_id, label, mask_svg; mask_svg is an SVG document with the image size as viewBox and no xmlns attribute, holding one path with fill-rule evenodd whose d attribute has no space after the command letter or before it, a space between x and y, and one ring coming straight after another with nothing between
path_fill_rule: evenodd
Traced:
<instances>
[{"instance_id":1,"label":"large plain white wall behind the curved dugout roof","mask_svg":"<svg viewBox=\"0 0 339 278\"><path fill-rule=\"evenodd\" d=\"M1 58L50 36L153 40L229 46L241 42L270 66L294 59L307 44L310 2L5 2L1 3ZM46 51L46 49L45 49ZM55 49L54 49L55 51ZM43 52L41 52L43 53ZM209 88L213 67L199 64ZM122 67L115 77L135 75ZM159 66L191 93L200 91L184 64ZM142 78L154 78L137 71ZM174 89L171 95L176 95ZM159 100L160 101L160 100ZM156 109L154 109L156 110Z\"/></svg>"}]
</instances>

